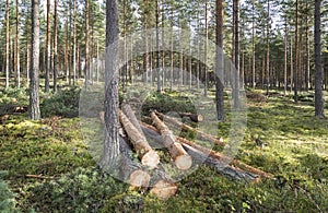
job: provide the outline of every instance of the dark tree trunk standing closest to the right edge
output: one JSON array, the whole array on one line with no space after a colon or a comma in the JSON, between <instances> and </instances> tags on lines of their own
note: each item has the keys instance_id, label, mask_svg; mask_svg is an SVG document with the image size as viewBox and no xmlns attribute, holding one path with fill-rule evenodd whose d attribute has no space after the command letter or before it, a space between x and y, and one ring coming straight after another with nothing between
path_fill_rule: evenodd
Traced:
<instances>
[{"instance_id":1,"label":"dark tree trunk standing closest to the right edge","mask_svg":"<svg viewBox=\"0 0 328 213\"><path fill-rule=\"evenodd\" d=\"M321 0L315 0L315 116L324 118L324 94L323 94L323 61L321 61Z\"/></svg>"}]
</instances>

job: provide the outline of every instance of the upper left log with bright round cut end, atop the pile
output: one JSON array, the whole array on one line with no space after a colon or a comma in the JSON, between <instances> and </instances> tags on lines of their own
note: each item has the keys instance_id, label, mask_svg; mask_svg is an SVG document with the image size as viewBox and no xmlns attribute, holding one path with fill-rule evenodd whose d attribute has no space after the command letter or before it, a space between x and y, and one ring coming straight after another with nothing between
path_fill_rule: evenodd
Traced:
<instances>
[{"instance_id":1,"label":"upper left log with bright round cut end, atop the pile","mask_svg":"<svg viewBox=\"0 0 328 213\"><path fill-rule=\"evenodd\" d=\"M121 110L119 111L119 119L133 144L142 165L149 166L151 169L155 168L160 163L159 154L152 150L144 135L138 131Z\"/></svg>"}]
</instances>

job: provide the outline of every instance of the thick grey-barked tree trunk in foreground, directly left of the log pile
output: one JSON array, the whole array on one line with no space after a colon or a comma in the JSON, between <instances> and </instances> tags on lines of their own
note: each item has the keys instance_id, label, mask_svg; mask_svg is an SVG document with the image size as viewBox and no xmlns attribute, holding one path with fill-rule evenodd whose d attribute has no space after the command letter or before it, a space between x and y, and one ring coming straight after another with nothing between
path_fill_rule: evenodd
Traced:
<instances>
[{"instance_id":1,"label":"thick grey-barked tree trunk in foreground, directly left of the log pile","mask_svg":"<svg viewBox=\"0 0 328 213\"><path fill-rule=\"evenodd\" d=\"M117 0L106 0L106 69L105 69L105 141L102 166L112 168L119 156L118 134L118 49L113 47L118 37L118 9Z\"/></svg>"}]
</instances>

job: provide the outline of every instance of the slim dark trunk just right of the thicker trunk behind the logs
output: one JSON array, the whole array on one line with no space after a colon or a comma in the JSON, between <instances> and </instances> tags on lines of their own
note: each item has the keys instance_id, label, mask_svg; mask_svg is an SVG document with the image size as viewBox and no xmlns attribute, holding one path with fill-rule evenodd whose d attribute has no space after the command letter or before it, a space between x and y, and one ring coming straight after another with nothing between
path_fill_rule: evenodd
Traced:
<instances>
[{"instance_id":1,"label":"slim dark trunk just right of the thicker trunk behind the logs","mask_svg":"<svg viewBox=\"0 0 328 213\"><path fill-rule=\"evenodd\" d=\"M235 62L235 74L234 74L234 107L239 107L239 0L234 0L234 62Z\"/></svg>"}]
</instances>

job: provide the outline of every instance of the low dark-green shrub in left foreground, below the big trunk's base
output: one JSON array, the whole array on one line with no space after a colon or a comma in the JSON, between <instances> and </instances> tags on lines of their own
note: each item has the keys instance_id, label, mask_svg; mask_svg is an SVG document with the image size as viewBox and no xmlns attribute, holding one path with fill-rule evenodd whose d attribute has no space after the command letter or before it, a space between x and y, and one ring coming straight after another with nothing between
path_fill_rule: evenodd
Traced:
<instances>
[{"instance_id":1,"label":"low dark-green shrub in left foreground, below the big trunk's base","mask_svg":"<svg viewBox=\"0 0 328 213\"><path fill-rule=\"evenodd\" d=\"M37 212L98 212L105 201L126 190L125 184L96 167L78 168L57 180L31 186L25 206Z\"/></svg>"}]
</instances>

